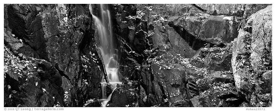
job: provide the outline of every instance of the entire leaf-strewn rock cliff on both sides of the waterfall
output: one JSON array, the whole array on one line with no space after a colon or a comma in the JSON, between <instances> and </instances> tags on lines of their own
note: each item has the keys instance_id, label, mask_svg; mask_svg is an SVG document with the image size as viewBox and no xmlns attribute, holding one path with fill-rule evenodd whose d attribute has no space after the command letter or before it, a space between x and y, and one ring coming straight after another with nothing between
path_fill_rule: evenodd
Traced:
<instances>
[{"instance_id":1,"label":"entire leaf-strewn rock cliff on both sides of the waterfall","mask_svg":"<svg viewBox=\"0 0 276 111\"><path fill-rule=\"evenodd\" d=\"M268 5L108 4L122 84L107 107L270 107ZM5 107L102 106L91 6L4 4Z\"/></svg>"}]
</instances>

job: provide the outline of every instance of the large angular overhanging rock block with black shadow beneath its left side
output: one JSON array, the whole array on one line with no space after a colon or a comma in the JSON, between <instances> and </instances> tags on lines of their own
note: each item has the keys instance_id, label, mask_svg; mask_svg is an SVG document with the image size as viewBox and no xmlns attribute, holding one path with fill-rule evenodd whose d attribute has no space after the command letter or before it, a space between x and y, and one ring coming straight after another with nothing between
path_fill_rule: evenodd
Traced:
<instances>
[{"instance_id":1,"label":"large angular overhanging rock block with black shadow beneath its left side","mask_svg":"<svg viewBox=\"0 0 276 111\"><path fill-rule=\"evenodd\" d=\"M199 19L200 18L200 19ZM197 50L205 43L230 43L238 35L238 25L234 16L210 16L197 14L194 16L168 19L168 25Z\"/></svg>"}]
</instances>

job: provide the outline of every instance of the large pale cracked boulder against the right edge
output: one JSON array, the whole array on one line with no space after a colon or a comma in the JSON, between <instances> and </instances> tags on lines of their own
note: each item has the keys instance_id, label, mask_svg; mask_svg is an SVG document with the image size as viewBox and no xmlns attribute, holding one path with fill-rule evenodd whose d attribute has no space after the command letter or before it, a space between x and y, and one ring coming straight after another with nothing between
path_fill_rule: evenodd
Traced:
<instances>
[{"instance_id":1,"label":"large pale cracked boulder against the right edge","mask_svg":"<svg viewBox=\"0 0 276 111\"><path fill-rule=\"evenodd\" d=\"M252 26L250 62L257 74L272 70L272 5L251 15L246 22Z\"/></svg>"}]
</instances>

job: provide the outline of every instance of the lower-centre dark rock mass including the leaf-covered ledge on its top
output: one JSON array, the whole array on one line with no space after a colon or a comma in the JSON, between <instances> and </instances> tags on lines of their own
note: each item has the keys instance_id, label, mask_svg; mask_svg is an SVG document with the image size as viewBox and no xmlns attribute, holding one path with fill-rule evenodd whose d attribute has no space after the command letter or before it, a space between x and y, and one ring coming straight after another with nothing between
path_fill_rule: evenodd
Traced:
<instances>
[{"instance_id":1,"label":"lower-centre dark rock mass including the leaf-covered ledge on its top","mask_svg":"<svg viewBox=\"0 0 276 111\"><path fill-rule=\"evenodd\" d=\"M147 63L141 67L140 84L148 95L148 100L145 102L148 106L161 103L165 99L168 102L175 102L186 96L182 90L185 82L184 68L177 63L175 56L165 52L171 49L170 46L163 45L159 49L155 52L157 57L148 58Z\"/></svg>"}]
</instances>

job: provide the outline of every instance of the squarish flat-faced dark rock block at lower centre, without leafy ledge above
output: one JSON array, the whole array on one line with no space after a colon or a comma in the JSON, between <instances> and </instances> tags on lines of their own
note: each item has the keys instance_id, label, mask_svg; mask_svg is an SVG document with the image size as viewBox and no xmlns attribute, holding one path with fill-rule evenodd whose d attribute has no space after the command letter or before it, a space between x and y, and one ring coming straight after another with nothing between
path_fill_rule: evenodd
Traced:
<instances>
[{"instance_id":1,"label":"squarish flat-faced dark rock block at lower centre, without leafy ledge above","mask_svg":"<svg viewBox=\"0 0 276 111\"><path fill-rule=\"evenodd\" d=\"M153 95L153 97L156 99L157 103L161 102L163 97L168 98L168 101L173 102L176 100L181 99L185 96L183 94L181 86L182 86L182 80L178 76L181 76L184 74L184 69L181 65L176 65L174 67L179 69L171 69L166 70L162 69L159 70L160 66L157 64L152 64L150 69L153 71L153 86L147 82L148 80L151 80L151 73L148 72L147 69L142 68L142 82L146 85L144 87L146 93L153 93L156 92L156 95ZM144 71L145 70L145 71ZM178 78L175 78L178 77ZM159 93L157 93L159 92Z\"/></svg>"}]
</instances>

